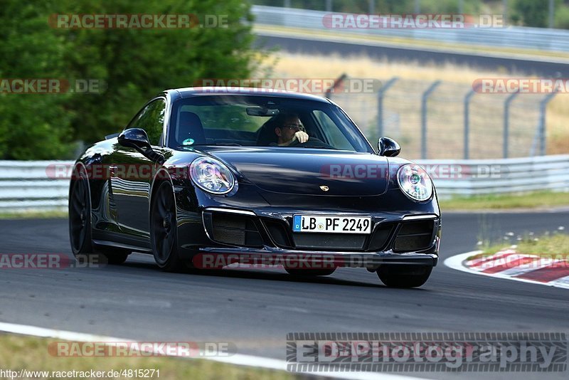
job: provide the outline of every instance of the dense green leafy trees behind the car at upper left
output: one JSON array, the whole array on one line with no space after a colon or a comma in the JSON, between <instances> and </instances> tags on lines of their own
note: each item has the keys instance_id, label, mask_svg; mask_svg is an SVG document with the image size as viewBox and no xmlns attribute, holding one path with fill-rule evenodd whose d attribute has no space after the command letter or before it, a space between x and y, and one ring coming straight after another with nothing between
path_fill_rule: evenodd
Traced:
<instances>
[{"instance_id":1,"label":"dense green leafy trees behind the car at upper left","mask_svg":"<svg viewBox=\"0 0 569 380\"><path fill-rule=\"evenodd\" d=\"M52 14L227 15L228 28L52 28ZM2 0L0 78L95 79L100 94L0 93L0 159L69 159L77 141L119 132L144 102L200 78L247 78L250 5L243 0Z\"/></svg>"}]
</instances>

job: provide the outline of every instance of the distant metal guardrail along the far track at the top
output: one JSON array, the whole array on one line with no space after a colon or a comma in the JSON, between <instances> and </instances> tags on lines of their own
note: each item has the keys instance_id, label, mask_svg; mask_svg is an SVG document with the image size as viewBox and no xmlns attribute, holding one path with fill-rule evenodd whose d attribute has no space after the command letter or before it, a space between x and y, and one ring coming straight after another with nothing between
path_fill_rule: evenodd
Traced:
<instances>
[{"instance_id":1,"label":"distant metal guardrail along the far track at the top","mask_svg":"<svg viewBox=\"0 0 569 380\"><path fill-rule=\"evenodd\" d=\"M289 26L314 30L335 31L371 36L391 36L415 40L429 40L479 46L533 49L541 51L569 51L569 31L562 29L528 28L342 28L324 26L326 11L284 9L277 6L252 6L255 23L270 26Z\"/></svg>"}]
</instances>

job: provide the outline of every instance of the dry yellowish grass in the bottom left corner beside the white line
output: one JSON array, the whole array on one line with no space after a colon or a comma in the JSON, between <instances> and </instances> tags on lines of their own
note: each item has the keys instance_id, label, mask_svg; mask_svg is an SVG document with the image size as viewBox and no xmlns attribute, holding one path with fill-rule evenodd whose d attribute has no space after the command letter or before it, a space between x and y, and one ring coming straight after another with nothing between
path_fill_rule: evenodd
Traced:
<instances>
[{"instance_id":1,"label":"dry yellowish grass in the bottom left corner beside the white line","mask_svg":"<svg viewBox=\"0 0 569 380\"><path fill-rule=\"evenodd\" d=\"M159 377L149 379L299 379L286 371L256 369L246 366L222 364L203 359L181 359L173 357L53 357L48 353L50 342L58 339L23 337L0 333L1 369L18 371L109 371L120 369L159 370ZM55 379L51 376L33 379ZM84 379L95 379L86 377ZM105 379L110 379L105 376ZM118 377L114 379L127 379Z\"/></svg>"}]
</instances>

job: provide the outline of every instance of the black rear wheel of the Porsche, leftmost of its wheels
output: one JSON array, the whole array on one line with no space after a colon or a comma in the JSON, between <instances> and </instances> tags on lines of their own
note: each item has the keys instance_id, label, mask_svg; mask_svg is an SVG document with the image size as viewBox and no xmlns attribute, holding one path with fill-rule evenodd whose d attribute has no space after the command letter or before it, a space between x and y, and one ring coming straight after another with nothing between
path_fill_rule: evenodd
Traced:
<instances>
[{"instance_id":1,"label":"black rear wheel of the Porsche, leftmost of its wheels","mask_svg":"<svg viewBox=\"0 0 569 380\"><path fill-rule=\"evenodd\" d=\"M91 200L87 176L81 169L71 179L69 189L69 241L73 255L85 260L93 255L91 240Z\"/></svg>"}]
</instances>

